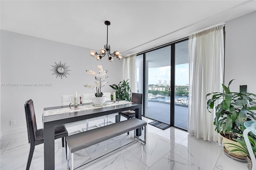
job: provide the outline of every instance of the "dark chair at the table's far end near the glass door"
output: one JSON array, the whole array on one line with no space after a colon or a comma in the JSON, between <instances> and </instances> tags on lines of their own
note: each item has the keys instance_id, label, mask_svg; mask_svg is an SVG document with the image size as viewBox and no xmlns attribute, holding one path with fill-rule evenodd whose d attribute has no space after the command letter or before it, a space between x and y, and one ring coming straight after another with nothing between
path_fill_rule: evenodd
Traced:
<instances>
[{"instance_id":1,"label":"dark chair at the table's far end near the glass door","mask_svg":"<svg viewBox=\"0 0 256 170\"><path fill-rule=\"evenodd\" d=\"M142 104L142 94L141 93L132 93L132 102ZM135 117L135 111L122 111L119 112L118 115L116 116L116 122L120 122L121 115L123 117L126 117L128 119L132 119ZM143 130L143 127L142 127ZM129 132L127 133L129 134Z\"/></svg>"}]
</instances>

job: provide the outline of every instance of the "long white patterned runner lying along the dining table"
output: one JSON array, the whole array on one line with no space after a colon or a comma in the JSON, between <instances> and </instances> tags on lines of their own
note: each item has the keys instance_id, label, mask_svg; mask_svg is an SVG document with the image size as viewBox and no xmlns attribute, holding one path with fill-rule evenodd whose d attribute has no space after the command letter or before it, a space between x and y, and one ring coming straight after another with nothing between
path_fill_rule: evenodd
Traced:
<instances>
[{"instance_id":1,"label":"long white patterned runner lying along the dining table","mask_svg":"<svg viewBox=\"0 0 256 170\"><path fill-rule=\"evenodd\" d=\"M58 115L58 114L73 113L73 112L79 112L79 111L85 111L85 110L99 109L102 107L125 105L127 103L132 103L132 102L130 102L130 101L119 101L118 103L108 102L102 106L84 105L84 106L78 106L79 109L77 109L77 110L70 109L69 107L61 108L61 109L53 109L53 110L43 111L43 117L50 116L50 115Z\"/></svg>"}]
</instances>

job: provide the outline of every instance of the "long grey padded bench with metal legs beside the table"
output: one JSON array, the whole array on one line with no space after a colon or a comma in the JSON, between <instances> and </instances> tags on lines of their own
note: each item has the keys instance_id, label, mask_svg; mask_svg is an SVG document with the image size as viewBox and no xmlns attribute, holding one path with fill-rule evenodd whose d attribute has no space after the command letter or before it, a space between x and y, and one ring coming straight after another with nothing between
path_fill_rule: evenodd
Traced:
<instances>
[{"instance_id":1,"label":"long grey padded bench with metal legs beside the table","mask_svg":"<svg viewBox=\"0 0 256 170\"><path fill-rule=\"evenodd\" d=\"M68 156L69 169L74 170L74 152L130 132L131 130L134 130L134 138L146 144L146 125L145 121L134 118L67 136L68 153L71 153L71 156ZM144 127L144 140L135 135L135 130L142 127Z\"/></svg>"}]
</instances>

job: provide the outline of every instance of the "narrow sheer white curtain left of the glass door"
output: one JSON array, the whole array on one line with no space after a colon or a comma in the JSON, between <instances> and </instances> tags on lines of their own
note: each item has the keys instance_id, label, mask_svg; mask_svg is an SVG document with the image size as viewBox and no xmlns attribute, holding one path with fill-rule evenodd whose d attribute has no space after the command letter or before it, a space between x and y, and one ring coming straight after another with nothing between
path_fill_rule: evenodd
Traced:
<instances>
[{"instance_id":1,"label":"narrow sheer white curtain left of the glass door","mask_svg":"<svg viewBox=\"0 0 256 170\"><path fill-rule=\"evenodd\" d=\"M136 54L124 58L124 80L130 83L132 93L137 93Z\"/></svg>"}]
</instances>

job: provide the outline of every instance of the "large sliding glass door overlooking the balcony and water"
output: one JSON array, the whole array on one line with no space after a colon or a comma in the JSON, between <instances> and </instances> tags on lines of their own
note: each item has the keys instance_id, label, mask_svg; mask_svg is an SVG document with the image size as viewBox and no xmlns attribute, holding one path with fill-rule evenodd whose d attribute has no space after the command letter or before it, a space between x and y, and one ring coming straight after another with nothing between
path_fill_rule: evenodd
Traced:
<instances>
[{"instance_id":1,"label":"large sliding glass door overlooking the balcony and water","mask_svg":"<svg viewBox=\"0 0 256 170\"><path fill-rule=\"evenodd\" d=\"M138 93L145 117L188 129L188 40L137 55Z\"/></svg>"}]
</instances>

